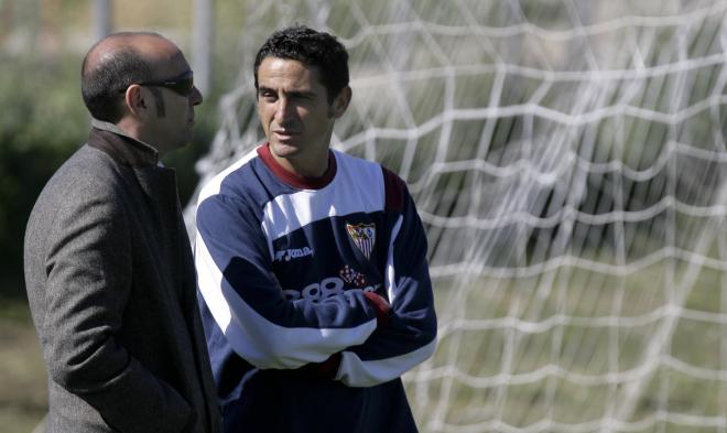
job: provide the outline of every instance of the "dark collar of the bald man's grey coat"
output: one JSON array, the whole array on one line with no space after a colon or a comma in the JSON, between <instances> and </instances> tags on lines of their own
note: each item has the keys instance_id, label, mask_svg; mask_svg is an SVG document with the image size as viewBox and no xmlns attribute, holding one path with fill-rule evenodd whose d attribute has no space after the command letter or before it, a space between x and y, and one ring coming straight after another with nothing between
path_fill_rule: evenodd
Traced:
<instances>
[{"instance_id":1,"label":"dark collar of the bald man's grey coat","mask_svg":"<svg viewBox=\"0 0 727 433\"><path fill-rule=\"evenodd\" d=\"M132 167L160 165L156 149L129 137L113 123L91 119L88 145L96 148L118 163Z\"/></svg>"}]
</instances>

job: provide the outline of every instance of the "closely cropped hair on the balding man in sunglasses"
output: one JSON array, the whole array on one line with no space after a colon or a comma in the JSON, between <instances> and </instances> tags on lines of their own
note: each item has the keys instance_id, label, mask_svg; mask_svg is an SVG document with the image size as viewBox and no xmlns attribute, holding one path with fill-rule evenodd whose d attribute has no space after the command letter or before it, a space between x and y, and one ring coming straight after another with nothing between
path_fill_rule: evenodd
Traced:
<instances>
[{"instance_id":1,"label":"closely cropped hair on the balding man in sunglasses","mask_svg":"<svg viewBox=\"0 0 727 433\"><path fill-rule=\"evenodd\" d=\"M117 33L110 37L127 34L140 33ZM156 35L155 33L148 34ZM101 42L97 42L88 53L90 54ZM90 68L88 67L88 54L86 54L80 69L80 94L84 97L84 104L96 119L116 123L123 116L122 91L134 83L153 79L152 74L149 61L131 46L116 50L109 58L102 59Z\"/></svg>"}]
</instances>

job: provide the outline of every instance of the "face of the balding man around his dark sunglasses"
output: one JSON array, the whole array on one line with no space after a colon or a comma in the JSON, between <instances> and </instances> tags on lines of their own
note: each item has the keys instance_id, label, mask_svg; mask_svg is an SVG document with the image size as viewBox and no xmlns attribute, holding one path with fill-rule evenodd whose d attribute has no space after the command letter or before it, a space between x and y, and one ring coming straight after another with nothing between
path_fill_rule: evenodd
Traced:
<instances>
[{"instance_id":1,"label":"face of the balding man around his dark sunglasses","mask_svg":"<svg viewBox=\"0 0 727 433\"><path fill-rule=\"evenodd\" d=\"M189 73L189 65L182 55L162 64L154 82L182 79ZM202 94L194 87L187 95L182 95L164 86L147 86L153 94L155 107L151 107L151 117L147 123L147 140L166 153L192 141L194 128L194 107L202 104Z\"/></svg>"}]
</instances>

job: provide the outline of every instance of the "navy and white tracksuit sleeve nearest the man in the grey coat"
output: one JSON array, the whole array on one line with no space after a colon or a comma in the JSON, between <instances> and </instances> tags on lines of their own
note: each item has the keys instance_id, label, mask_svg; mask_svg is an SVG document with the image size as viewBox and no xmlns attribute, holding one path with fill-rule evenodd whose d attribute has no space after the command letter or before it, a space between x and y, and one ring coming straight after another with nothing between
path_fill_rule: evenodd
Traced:
<instances>
[{"instance_id":1,"label":"navy and white tracksuit sleeve nearest the man in the grey coat","mask_svg":"<svg viewBox=\"0 0 727 433\"><path fill-rule=\"evenodd\" d=\"M254 204L223 194L197 206L198 288L232 349L258 368L299 368L362 344L377 311L361 291L287 300Z\"/></svg>"}]
</instances>

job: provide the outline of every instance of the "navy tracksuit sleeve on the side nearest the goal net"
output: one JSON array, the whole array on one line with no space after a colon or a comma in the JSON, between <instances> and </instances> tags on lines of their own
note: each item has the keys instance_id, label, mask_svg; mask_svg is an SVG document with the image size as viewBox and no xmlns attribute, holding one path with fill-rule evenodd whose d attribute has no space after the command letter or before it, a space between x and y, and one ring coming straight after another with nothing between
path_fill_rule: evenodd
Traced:
<instances>
[{"instance_id":1,"label":"navy tracksuit sleeve on the side nearest the goal net","mask_svg":"<svg viewBox=\"0 0 727 433\"><path fill-rule=\"evenodd\" d=\"M384 170L384 185L392 223L384 269L391 317L365 344L340 354L336 378L350 387L395 379L428 358L436 346L424 228L403 181Z\"/></svg>"}]
</instances>

